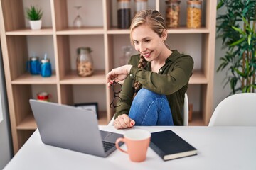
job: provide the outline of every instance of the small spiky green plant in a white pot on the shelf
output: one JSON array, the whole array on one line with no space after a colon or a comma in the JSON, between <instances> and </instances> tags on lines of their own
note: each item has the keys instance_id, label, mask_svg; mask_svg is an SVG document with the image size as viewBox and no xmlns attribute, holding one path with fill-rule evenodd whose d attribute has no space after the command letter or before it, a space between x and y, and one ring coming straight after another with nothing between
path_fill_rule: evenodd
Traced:
<instances>
[{"instance_id":1,"label":"small spiky green plant in a white pot on the shelf","mask_svg":"<svg viewBox=\"0 0 256 170\"><path fill-rule=\"evenodd\" d=\"M42 26L41 18L43 16L43 11L35 6L30 6L26 8L26 18L29 20L29 24L32 30L40 30Z\"/></svg>"}]
</instances>

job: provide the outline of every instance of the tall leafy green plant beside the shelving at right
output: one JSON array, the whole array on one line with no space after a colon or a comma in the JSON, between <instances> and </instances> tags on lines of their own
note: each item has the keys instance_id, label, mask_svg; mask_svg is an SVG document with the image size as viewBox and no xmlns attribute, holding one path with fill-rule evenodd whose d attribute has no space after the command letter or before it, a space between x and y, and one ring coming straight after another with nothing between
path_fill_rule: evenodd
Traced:
<instances>
[{"instance_id":1,"label":"tall leafy green plant beside the shelving at right","mask_svg":"<svg viewBox=\"0 0 256 170\"><path fill-rule=\"evenodd\" d=\"M256 72L256 0L220 0L217 9L226 13L217 17L217 38L222 38L223 49L217 72L226 70L225 85L232 92L255 92Z\"/></svg>"}]
</instances>

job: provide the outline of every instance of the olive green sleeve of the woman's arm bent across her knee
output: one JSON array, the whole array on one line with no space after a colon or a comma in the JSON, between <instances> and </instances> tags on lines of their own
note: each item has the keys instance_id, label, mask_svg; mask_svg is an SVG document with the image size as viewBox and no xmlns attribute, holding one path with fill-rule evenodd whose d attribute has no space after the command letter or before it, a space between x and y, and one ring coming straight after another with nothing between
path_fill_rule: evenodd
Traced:
<instances>
[{"instance_id":1,"label":"olive green sleeve of the woman's arm bent across her knee","mask_svg":"<svg viewBox=\"0 0 256 170\"><path fill-rule=\"evenodd\" d=\"M162 69L159 73L155 73L132 67L129 77L134 81L139 81L145 89L158 94L173 94L188 83L193 69L193 59L186 55L178 58L174 67L163 67ZM166 74L161 74L161 70Z\"/></svg>"}]
</instances>

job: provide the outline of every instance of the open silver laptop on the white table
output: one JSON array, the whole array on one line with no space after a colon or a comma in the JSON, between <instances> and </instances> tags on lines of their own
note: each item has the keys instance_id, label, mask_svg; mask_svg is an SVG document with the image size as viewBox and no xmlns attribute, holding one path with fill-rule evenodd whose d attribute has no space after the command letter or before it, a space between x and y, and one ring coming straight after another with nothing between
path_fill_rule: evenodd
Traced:
<instances>
[{"instance_id":1,"label":"open silver laptop on the white table","mask_svg":"<svg viewBox=\"0 0 256 170\"><path fill-rule=\"evenodd\" d=\"M99 130L97 114L75 106L29 100L41 140L47 145L107 157L123 135Z\"/></svg>"}]
</instances>

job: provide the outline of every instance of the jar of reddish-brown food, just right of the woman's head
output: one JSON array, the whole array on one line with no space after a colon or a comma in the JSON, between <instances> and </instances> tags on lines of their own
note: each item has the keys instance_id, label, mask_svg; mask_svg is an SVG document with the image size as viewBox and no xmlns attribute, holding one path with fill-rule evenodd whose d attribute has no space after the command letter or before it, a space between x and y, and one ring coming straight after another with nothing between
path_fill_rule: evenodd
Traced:
<instances>
[{"instance_id":1,"label":"jar of reddish-brown food, just right of the woman's head","mask_svg":"<svg viewBox=\"0 0 256 170\"><path fill-rule=\"evenodd\" d=\"M166 1L166 26L168 28L179 27L180 4L178 0Z\"/></svg>"}]
</instances>

